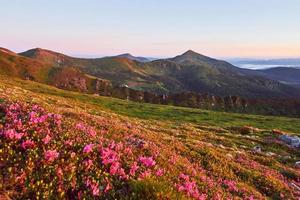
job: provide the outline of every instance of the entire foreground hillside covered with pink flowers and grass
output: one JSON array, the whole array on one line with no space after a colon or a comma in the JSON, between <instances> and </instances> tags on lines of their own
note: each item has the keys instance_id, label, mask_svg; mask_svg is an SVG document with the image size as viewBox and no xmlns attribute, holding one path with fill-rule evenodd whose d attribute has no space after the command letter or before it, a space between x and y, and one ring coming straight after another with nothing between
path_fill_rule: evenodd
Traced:
<instances>
[{"instance_id":1,"label":"entire foreground hillside covered with pink flowers and grass","mask_svg":"<svg viewBox=\"0 0 300 200\"><path fill-rule=\"evenodd\" d=\"M139 104L0 75L0 198L298 199L299 150L274 128L299 135L299 119Z\"/></svg>"}]
</instances>

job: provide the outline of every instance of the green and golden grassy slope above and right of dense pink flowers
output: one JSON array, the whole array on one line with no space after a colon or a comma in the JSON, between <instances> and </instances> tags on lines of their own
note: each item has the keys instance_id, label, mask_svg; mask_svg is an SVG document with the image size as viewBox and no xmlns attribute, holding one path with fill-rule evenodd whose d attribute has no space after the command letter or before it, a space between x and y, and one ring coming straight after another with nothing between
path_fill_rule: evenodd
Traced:
<instances>
[{"instance_id":1,"label":"green and golden grassy slope above and right of dense pink flowers","mask_svg":"<svg viewBox=\"0 0 300 200\"><path fill-rule=\"evenodd\" d=\"M6 76L0 76L0 94L0 97L6 99L38 103L51 112L63 114L71 121L86 117L86 122L89 122L101 117L100 119L107 121L105 126L111 126L109 130L113 134L110 137L121 137L119 134L121 129L118 127L128 127L128 123L131 124L130 129L137 137L159 148L161 156L158 163L168 172L163 181L172 182L180 172L184 173L187 170L185 173L191 173L189 167L201 165L207 171L206 176L210 176L213 180L218 177L235 180L240 188L245 188L247 194L250 192L255 194L255 197L264 199L264 197L278 198L280 193L290 197L292 189L283 182L280 174L289 177L288 182L299 177L299 173L293 168L295 161L300 159L299 152L279 143L270 143L270 140L274 139L270 131L241 135L221 128L247 124L299 133L299 119L138 104L63 91ZM101 124L103 125L103 122ZM118 139L122 140L122 137ZM252 152L252 148L256 145L262 147L262 154ZM276 155L267 156L266 152L273 152ZM167 159L173 155L177 156L178 161L170 165ZM241 162L240 156L243 157ZM206 183L201 179L203 174L200 172L197 171L194 177L201 190L206 191ZM145 184L152 187L150 182ZM138 194L144 193L143 187L147 188L147 186L134 187ZM158 191L164 195L170 193L169 188L158 185L154 187L164 190ZM208 190L207 193L213 196L214 190ZM228 193L224 195L222 198L226 198ZM234 195L239 196L236 193Z\"/></svg>"}]
</instances>

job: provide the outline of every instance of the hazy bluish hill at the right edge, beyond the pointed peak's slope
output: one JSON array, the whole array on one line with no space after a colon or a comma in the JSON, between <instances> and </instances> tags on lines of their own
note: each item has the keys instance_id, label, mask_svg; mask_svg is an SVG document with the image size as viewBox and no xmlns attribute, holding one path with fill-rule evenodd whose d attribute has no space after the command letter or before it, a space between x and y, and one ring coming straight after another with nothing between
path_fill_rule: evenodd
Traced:
<instances>
[{"instance_id":1,"label":"hazy bluish hill at the right edge, beyond the pointed peak's slope","mask_svg":"<svg viewBox=\"0 0 300 200\"><path fill-rule=\"evenodd\" d=\"M275 67L258 71L269 79L300 87L300 68Z\"/></svg>"}]
</instances>

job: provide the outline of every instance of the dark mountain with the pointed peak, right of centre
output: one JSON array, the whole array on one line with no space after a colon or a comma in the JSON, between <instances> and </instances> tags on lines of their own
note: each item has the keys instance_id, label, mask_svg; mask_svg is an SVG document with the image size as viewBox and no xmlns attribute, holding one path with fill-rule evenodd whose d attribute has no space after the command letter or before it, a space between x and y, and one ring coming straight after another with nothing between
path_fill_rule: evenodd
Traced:
<instances>
[{"instance_id":1,"label":"dark mountain with the pointed peak, right of centre","mask_svg":"<svg viewBox=\"0 0 300 200\"><path fill-rule=\"evenodd\" d=\"M250 73L231 65L193 51L175 58L153 61L152 69L158 75L176 79L183 91L212 93L217 95L238 95L247 98L291 96L298 90ZM252 71L251 71L252 72Z\"/></svg>"}]
</instances>

